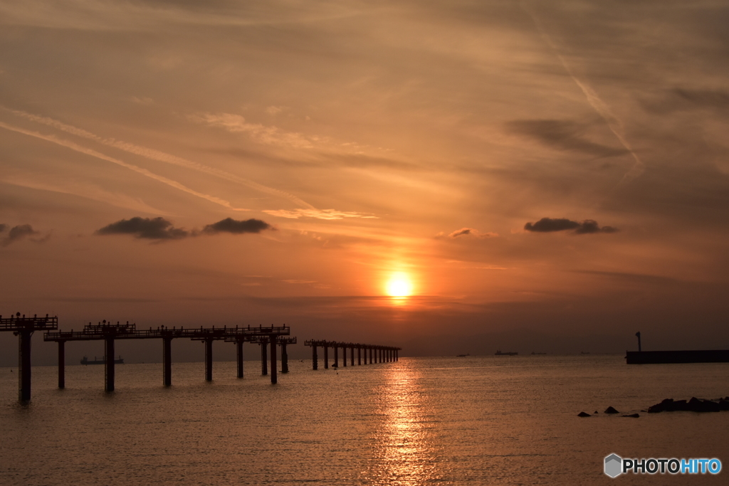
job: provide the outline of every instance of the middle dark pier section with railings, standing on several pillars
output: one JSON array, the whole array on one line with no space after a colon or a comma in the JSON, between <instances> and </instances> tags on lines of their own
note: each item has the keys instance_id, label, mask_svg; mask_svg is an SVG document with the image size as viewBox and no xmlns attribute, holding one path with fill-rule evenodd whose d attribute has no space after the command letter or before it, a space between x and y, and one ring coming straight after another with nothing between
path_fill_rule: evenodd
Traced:
<instances>
[{"instance_id":1,"label":"middle dark pier section with railings, standing on several pillars","mask_svg":"<svg viewBox=\"0 0 729 486\"><path fill-rule=\"evenodd\" d=\"M53 328L53 329L57 329ZM102 321L98 324L87 324L82 331L46 332L44 341L58 342L58 388L65 388L65 366L67 341L93 341L104 340L104 390L114 391L114 341L134 339L161 339L163 343L163 383L172 385L172 340L174 338L188 338L202 341L205 345L205 379L213 379L213 342L223 340L235 342L238 346L238 377L243 377L243 342L260 342L265 337L271 349L271 383L277 383L276 376L276 345L278 338L291 334L289 326L258 326L258 327L203 327L187 328L160 326L157 329L136 329L136 324L112 324ZM265 349L265 346L262 347Z\"/></svg>"}]
</instances>

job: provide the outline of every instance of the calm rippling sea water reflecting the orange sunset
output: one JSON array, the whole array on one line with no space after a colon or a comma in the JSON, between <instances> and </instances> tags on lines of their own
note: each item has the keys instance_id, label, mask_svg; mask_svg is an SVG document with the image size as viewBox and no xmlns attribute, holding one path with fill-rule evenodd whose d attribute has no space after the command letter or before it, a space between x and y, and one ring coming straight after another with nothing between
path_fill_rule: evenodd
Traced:
<instances>
[{"instance_id":1,"label":"calm rippling sea water reflecting the orange sunset","mask_svg":"<svg viewBox=\"0 0 729 486\"><path fill-rule=\"evenodd\" d=\"M321 364L320 364L321 367ZM2 485L729 484L729 412L640 412L729 394L729 364L628 366L622 356L400 358L319 371L291 361L277 385L246 361L0 368ZM279 367L280 369L280 367ZM602 472L625 458L719 458L717 476Z\"/></svg>"}]
</instances>

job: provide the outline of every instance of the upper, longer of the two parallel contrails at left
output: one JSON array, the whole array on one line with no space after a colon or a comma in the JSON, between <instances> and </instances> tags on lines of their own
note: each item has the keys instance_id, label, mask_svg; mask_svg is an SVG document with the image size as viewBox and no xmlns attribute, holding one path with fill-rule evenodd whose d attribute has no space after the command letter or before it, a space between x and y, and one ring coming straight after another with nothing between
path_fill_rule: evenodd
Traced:
<instances>
[{"instance_id":1,"label":"upper, longer of the two parallel contrails at left","mask_svg":"<svg viewBox=\"0 0 729 486\"><path fill-rule=\"evenodd\" d=\"M192 162L192 160L187 160L182 157L177 157L176 155L167 154L165 152L161 152L161 151L155 150L155 149L149 149L148 147L144 147L144 146L130 144L125 141L119 141L114 138L104 138L104 137L96 135L95 133L91 133L87 130L84 130L82 128L77 128L72 125L66 125L66 123L59 122L58 120L55 120L52 118L40 117L39 115L26 113L25 111L9 109L5 106L0 106L0 108L4 109L5 111L9 111L12 114L17 115L18 117L23 117L25 119L31 120L32 122L42 123L43 125L47 125L52 128L57 128L58 130L62 130L66 133L71 133L71 135L79 136L82 138L88 138L90 140L98 142L99 144L111 146L111 147L114 147L115 149L120 149L125 152L129 152L130 154L140 155L141 157L146 157L147 159L157 160L159 162L166 162L168 164L178 165L179 167L189 168L194 171L206 173L211 176L219 177L220 179L225 179L227 181L235 182L237 184L243 184L244 186L250 187L251 189L255 189L260 192L264 192L265 194L270 194L270 195L277 196L277 197L283 197L285 199L292 201L293 203L296 203L297 205L302 206L303 208L308 208L308 209L313 209L313 210L316 209L316 208L314 208L313 205L306 203L304 200L301 200L299 197L289 194L288 192L284 192L279 189L274 189L273 187L264 186L263 184L258 184L257 182L252 181L250 179L246 179L241 176L236 176L235 174L232 174L232 173L221 171L217 168L210 167L209 165L200 164L198 162Z\"/></svg>"}]
</instances>

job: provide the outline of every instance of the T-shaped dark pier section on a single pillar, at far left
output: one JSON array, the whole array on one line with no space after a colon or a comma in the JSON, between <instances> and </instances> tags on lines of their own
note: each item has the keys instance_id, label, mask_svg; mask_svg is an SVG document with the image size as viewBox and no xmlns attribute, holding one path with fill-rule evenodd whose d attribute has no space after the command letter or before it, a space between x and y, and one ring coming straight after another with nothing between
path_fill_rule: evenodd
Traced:
<instances>
[{"instance_id":1,"label":"T-shaped dark pier section on a single pillar, at far left","mask_svg":"<svg viewBox=\"0 0 729 486\"><path fill-rule=\"evenodd\" d=\"M20 401L31 399L31 337L35 331L58 329L58 317L21 317L20 313L3 318L0 315L0 331L11 331L18 337L17 349L17 396Z\"/></svg>"}]
</instances>

